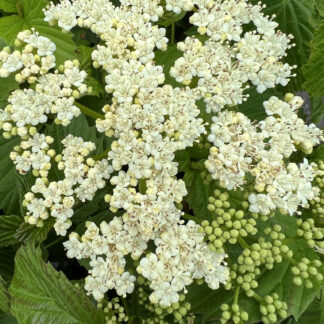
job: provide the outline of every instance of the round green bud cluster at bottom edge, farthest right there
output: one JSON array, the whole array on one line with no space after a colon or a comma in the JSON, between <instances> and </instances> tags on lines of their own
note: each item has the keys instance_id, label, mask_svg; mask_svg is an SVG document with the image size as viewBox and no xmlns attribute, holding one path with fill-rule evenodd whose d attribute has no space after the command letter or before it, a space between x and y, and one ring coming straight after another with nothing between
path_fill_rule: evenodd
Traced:
<instances>
[{"instance_id":1,"label":"round green bud cluster at bottom edge, farthest right there","mask_svg":"<svg viewBox=\"0 0 324 324\"><path fill-rule=\"evenodd\" d=\"M287 317L287 303L280 301L278 294L265 296L260 303L260 313L264 324L278 323L278 316L282 319Z\"/></svg>"}]
</instances>

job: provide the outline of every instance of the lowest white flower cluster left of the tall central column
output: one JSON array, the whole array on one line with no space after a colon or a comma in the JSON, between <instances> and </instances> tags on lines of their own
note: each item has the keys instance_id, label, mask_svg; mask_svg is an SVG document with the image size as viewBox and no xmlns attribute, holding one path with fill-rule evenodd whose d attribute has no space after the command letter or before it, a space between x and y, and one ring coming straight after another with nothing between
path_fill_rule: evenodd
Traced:
<instances>
[{"instance_id":1,"label":"lowest white flower cluster left of the tall central column","mask_svg":"<svg viewBox=\"0 0 324 324\"><path fill-rule=\"evenodd\" d=\"M42 163L42 156L48 157L44 150L48 149L46 143L53 142L53 138L45 135L36 134L28 141L21 143L22 148L31 148L32 153L24 156L25 160L32 164L35 170L38 170L34 164L33 157L38 164ZM41 177L36 179L31 188L31 192L25 195L24 205L27 208L25 217L29 224L42 226L43 220L49 216L55 218L54 229L58 235L66 235L67 229L72 225L70 218L73 216L73 206L76 200L92 200L96 191L105 187L107 179L113 169L108 165L106 159L94 161L92 158L85 160L91 151L95 149L92 142L84 142L81 137L68 135L63 141L62 155L56 155L59 170L64 171L64 179L60 181L49 182L47 172L51 167L49 161L46 165L46 174L40 172ZM52 150L54 151L54 150ZM24 153L25 153L24 152ZM42 153L40 156L39 154ZM48 154L48 153L47 153ZM50 154L55 156L55 151ZM17 164L21 163L17 158ZM26 164L27 164L26 162Z\"/></svg>"}]
</instances>

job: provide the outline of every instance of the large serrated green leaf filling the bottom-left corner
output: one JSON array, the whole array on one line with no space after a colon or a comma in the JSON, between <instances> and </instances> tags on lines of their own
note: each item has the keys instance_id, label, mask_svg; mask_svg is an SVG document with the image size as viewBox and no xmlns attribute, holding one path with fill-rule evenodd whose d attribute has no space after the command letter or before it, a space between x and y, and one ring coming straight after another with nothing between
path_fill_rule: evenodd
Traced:
<instances>
[{"instance_id":1,"label":"large serrated green leaf filling the bottom-left corner","mask_svg":"<svg viewBox=\"0 0 324 324\"><path fill-rule=\"evenodd\" d=\"M18 250L9 293L11 313L20 323L105 323L102 311L62 272L42 260L40 248Z\"/></svg>"}]
</instances>

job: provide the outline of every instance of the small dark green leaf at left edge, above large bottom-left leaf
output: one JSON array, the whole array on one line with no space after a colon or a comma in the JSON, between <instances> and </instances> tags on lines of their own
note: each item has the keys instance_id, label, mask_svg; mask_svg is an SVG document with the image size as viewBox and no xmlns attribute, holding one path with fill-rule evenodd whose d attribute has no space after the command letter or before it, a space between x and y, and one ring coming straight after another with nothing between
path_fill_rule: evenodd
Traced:
<instances>
[{"instance_id":1,"label":"small dark green leaf at left edge, above large bottom-left leaf","mask_svg":"<svg viewBox=\"0 0 324 324\"><path fill-rule=\"evenodd\" d=\"M0 247L17 243L14 235L23 221L22 217L16 215L0 216Z\"/></svg>"}]
</instances>

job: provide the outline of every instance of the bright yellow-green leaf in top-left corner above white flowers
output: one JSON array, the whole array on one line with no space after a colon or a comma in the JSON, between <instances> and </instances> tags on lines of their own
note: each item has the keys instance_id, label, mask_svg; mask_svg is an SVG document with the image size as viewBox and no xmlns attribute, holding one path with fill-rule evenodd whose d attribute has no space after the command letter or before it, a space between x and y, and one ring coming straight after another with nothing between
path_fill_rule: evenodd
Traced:
<instances>
[{"instance_id":1,"label":"bright yellow-green leaf in top-left corner above white flowers","mask_svg":"<svg viewBox=\"0 0 324 324\"><path fill-rule=\"evenodd\" d=\"M48 5L46 0L21 0L22 17L7 16L0 18L0 35L9 44L13 45L17 34L25 29L35 28L42 36L48 37L56 44L57 65L66 60L75 59L76 45L72 40L72 33L63 33L57 26L49 26L44 21L42 9Z\"/></svg>"}]
</instances>

